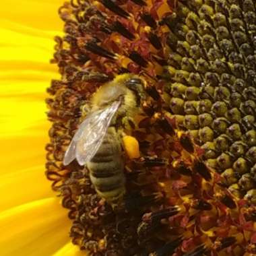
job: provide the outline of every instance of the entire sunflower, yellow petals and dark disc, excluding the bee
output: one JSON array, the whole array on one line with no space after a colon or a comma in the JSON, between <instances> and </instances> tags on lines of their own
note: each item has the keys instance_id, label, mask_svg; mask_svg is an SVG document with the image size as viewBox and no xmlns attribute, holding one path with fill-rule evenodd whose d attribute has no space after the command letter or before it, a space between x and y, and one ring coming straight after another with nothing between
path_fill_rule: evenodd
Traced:
<instances>
[{"instance_id":1,"label":"entire sunflower, yellow petals and dark disc, excluding the bee","mask_svg":"<svg viewBox=\"0 0 256 256\"><path fill-rule=\"evenodd\" d=\"M61 30L56 11L62 1L12 2L18 11L15 7L9 10L8 4L2 1L0 13L1 57L5 59L1 69L5 72L1 192L6 195L1 199L1 255L85 255L79 247L97 256L253 255L255 168L249 173L247 167L255 164L255 125L247 116L255 114L254 80L249 77L254 77L251 69L255 67L254 59L247 58L251 46L243 40L255 32L253 2L71 0L59 9L65 35L55 37L52 62L59 65L61 77L48 63L52 38ZM226 25L223 13L229 15L228 32L222 28ZM235 37L237 30L243 31ZM229 33L234 36L231 41ZM219 49L219 40L224 51ZM236 50L243 53L242 59ZM241 67L241 61L248 61L245 67L250 72ZM132 193L124 198L125 212L113 212L94 191L88 172L76 162L65 167L62 160L83 104L98 86L128 72L147 80L151 98L143 105L146 118L132 132L144 157L130 162L126 158L131 167L125 172L127 187ZM215 78L223 86L214 84ZM49 97L44 91L50 79ZM241 92L243 79L248 84ZM243 100L237 102L229 90L236 96L243 94ZM44 117L46 97L51 128ZM224 97L230 97L230 105L226 106ZM208 108L212 104L215 108ZM229 109L233 105L236 110ZM245 125L239 123L239 110L248 114ZM221 117L213 122L215 128L212 115ZM245 130L243 136L238 133L239 125ZM51 143L47 143L47 130ZM238 156L229 159L229 142L234 141L224 140L220 146L226 146L228 156L219 156L221 151L215 147L220 131L227 133L224 139L245 140L238 143L242 149L245 143L250 146L243 160L234 162ZM73 223L44 179L44 144L46 176L63 196L62 204ZM234 177L224 175L226 170ZM225 180L230 177L234 179ZM79 247L69 242L68 234Z\"/></svg>"}]
</instances>

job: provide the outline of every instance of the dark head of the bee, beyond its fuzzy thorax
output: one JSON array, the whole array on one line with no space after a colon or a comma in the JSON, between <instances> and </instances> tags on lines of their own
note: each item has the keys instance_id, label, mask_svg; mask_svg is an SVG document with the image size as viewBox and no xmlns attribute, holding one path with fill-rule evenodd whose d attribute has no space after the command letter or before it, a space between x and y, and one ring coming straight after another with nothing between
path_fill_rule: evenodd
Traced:
<instances>
[{"instance_id":1,"label":"dark head of the bee, beyond its fuzzy thorax","mask_svg":"<svg viewBox=\"0 0 256 256\"><path fill-rule=\"evenodd\" d=\"M143 80L141 77L134 75L130 77L125 82L125 86L134 92L136 96L137 104L139 105L143 100L146 99L145 88L146 88L146 81Z\"/></svg>"}]
</instances>

